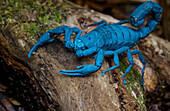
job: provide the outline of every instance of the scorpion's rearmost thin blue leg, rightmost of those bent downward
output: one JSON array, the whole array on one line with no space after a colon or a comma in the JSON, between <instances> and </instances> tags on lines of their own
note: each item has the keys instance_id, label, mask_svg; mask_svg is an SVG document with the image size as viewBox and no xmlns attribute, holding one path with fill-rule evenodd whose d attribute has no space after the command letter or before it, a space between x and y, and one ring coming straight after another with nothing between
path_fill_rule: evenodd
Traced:
<instances>
[{"instance_id":1,"label":"scorpion's rearmost thin blue leg, rightmost of those bent downward","mask_svg":"<svg viewBox=\"0 0 170 111\"><path fill-rule=\"evenodd\" d=\"M142 53L140 52L140 50L137 50L137 49L136 49L136 50L132 50L131 52L132 52L132 55L138 54L139 59L140 59L140 61L141 61L142 64L143 64L143 68L142 68L142 76L141 76L141 83L142 83L142 85L144 85L143 76L144 76L144 70L145 70L145 66L146 66L146 61L145 61L145 59L144 59Z\"/></svg>"}]
</instances>

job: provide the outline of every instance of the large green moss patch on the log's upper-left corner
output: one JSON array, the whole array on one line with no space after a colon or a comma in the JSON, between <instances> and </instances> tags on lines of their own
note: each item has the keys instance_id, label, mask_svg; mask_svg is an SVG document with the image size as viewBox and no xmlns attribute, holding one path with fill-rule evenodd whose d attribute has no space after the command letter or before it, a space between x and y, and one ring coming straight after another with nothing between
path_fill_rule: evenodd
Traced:
<instances>
[{"instance_id":1,"label":"large green moss patch on the log's upper-left corner","mask_svg":"<svg viewBox=\"0 0 170 111\"><path fill-rule=\"evenodd\" d=\"M25 34L33 40L38 37L38 33L43 34L62 23L66 18L65 11L68 9L64 3L55 4L55 2L42 2L42 0L4 0L0 4L1 26L7 28L9 24L13 24L16 36ZM23 15L23 9L30 15ZM34 11L36 11L36 21L23 19L23 17L30 17Z\"/></svg>"}]
</instances>

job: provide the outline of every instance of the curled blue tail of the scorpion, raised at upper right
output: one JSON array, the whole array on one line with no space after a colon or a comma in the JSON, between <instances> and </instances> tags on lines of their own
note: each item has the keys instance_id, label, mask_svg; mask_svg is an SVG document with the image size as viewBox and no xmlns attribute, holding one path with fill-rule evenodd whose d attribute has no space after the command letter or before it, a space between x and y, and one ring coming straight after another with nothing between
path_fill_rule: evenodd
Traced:
<instances>
[{"instance_id":1,"label":"curled blue tail of the scorpion, raised at upper right","mask_svg":"<svg viewBox=\"0 0 170 111\"><path fill-rule=\"evenodd\" d=\"M141 38L150 34L159 24L162 17L162 8L159 4L148 1L140 5L130 16L130 23L132 26L139 27L144 23L145 16L147 16L150 12L152 14L152 18L148 20L144 27L138 29L141 33Z\"/></svg>"}]
</instances>

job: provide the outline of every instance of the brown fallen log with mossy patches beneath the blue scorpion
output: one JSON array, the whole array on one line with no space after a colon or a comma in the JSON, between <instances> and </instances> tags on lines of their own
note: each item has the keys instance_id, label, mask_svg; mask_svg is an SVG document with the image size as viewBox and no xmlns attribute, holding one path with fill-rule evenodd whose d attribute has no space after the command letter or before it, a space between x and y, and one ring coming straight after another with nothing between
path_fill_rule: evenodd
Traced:
<instances>
[{"instance_id":1,"label":"brown fallen log with mossy patches beneath the blue scorpion","mask_svg":"<svg viewBox=\"0 0 170 111\"><path fill-rule=\"evenodd\" d=\"M153 91L160 84L160 75L163 75L162 77L166 79L169 71L167 68L169 67L168 59L162 59L164 51L159 55L160 49L158 49L157 54L157 49L154 47L155 44L151 42L149 46L146 44L150 40L154 40L152 36L139 43L139 48L144 53L146 60L151 61L150 64L147 62L148 68L144 77L146 84L144 89L140 84L139 70L141 68L137 56L134 56L134 60L138 66L135 66L129 74L131 76L126 78L127 85L123 84L121 78L121 74L128 67L126 58L121 58L122 64L120 68L107 72L104 77L101 77L102 72L114 65L110 57L106 57L102 68L93 74L84 77L61 75L59 73L61 69L74 70L82 64L94 64L94 58L92 56L77 58L74 51L66 49L62 44L64 35L56 37L56 40L52 43L39 47L32 54L31 58L28 59L27 56L30 49L49 28L68 25L70 27L78 27L85 33L89 29L84 28L83 23L89 24L101 20L105 20L108 23L118 22L118 20L108 15L77 7L68 2L60 1L57 3L60 4L57 9L61 10L59 12L62 12L61 15L56 15L58 17L57 19L53 18L54 15L51 15L53 13L50 11L53 8L47 8L47 12L44 12L47 15L43 15L43 17L38 15L39 13L43 13L37 11L39 8L37 10L24 8L22 11L19 11L22 15L20 17L28 17L24 18L24 20L21 19L19 22L16 22L17 20L14 18L10 18L11 20L7 19L5 22L2 22L0 27L0 57L5 61L5 64L17 70L19 74L27 75L30 81L34 83L33 89L40 93L37 100L42 100L40 102L42 109L64 111L145 110L143 90ZM36 2L37 7L40 7L40 9L43 7L44 10L46 5L48 6L49 4L48 2ZM50 5L50 7L55 6ZM62 11L63 7L65 8L64 11ZM25 13L27 14L24 15ZM33 16L34 14L35 16ZM65 20L64 17L66 18ZM61 21L62 23L60 23ZM55 22L58 22L58 24ZM73 34L73 40L74 37ZM156 42L160 41L157 40ZM150 48L152 49L150 50ZM166 50L168 50L169 54L169 49ZM152 58L151 54L154 58ZM157 65L158 60L163 62ZM159 69L158 71L155 70L155 66Z\"/></svg>"}]
</instances>

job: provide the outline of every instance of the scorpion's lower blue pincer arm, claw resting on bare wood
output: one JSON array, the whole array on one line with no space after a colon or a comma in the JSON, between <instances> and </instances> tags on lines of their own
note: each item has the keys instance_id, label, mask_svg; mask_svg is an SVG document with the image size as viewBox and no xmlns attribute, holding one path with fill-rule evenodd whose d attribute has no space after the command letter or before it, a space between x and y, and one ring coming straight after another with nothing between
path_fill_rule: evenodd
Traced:
<instances>
[{"instance_id":1,"label":"scorpion's lower blue pincer arm, claw resting on bare wood","mask_svg":"<svg viewBox=\"0 0 170 111\"><path fill-rule=\"evenodd\" d=\"M64 75L71 75L71 76L83 76L89 73L93 73L101 68L103 64L103 59L104 59L104 51L101 49L95 56L95 61L96 61L95 65L93 64L81 65L77 67L78 70L71 70L71 71L60 70L60 73Z\"/></svg>"}]
</instances>

